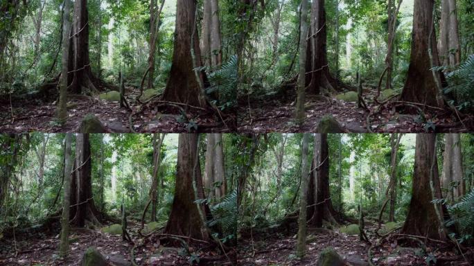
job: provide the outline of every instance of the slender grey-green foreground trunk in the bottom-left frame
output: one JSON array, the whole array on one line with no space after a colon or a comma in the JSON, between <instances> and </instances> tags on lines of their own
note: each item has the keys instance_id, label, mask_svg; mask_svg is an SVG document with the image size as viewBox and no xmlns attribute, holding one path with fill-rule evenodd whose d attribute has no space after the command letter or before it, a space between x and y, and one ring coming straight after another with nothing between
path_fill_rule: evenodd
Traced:
<instances>
[{"instance_id":1,"label":"slender grey-green foreground trunk in the bottom-left frame","mask_svg":"<svg viewBox=\"0 0 474 266\"><path fill-rule=\"evenodd\" d=\"M60 256L65 258L69 253L69 205L71 205L71 171L72 171L72 133L66 134L64 149L64 203L62 204Z\"/></svg>"}]
</instances>

